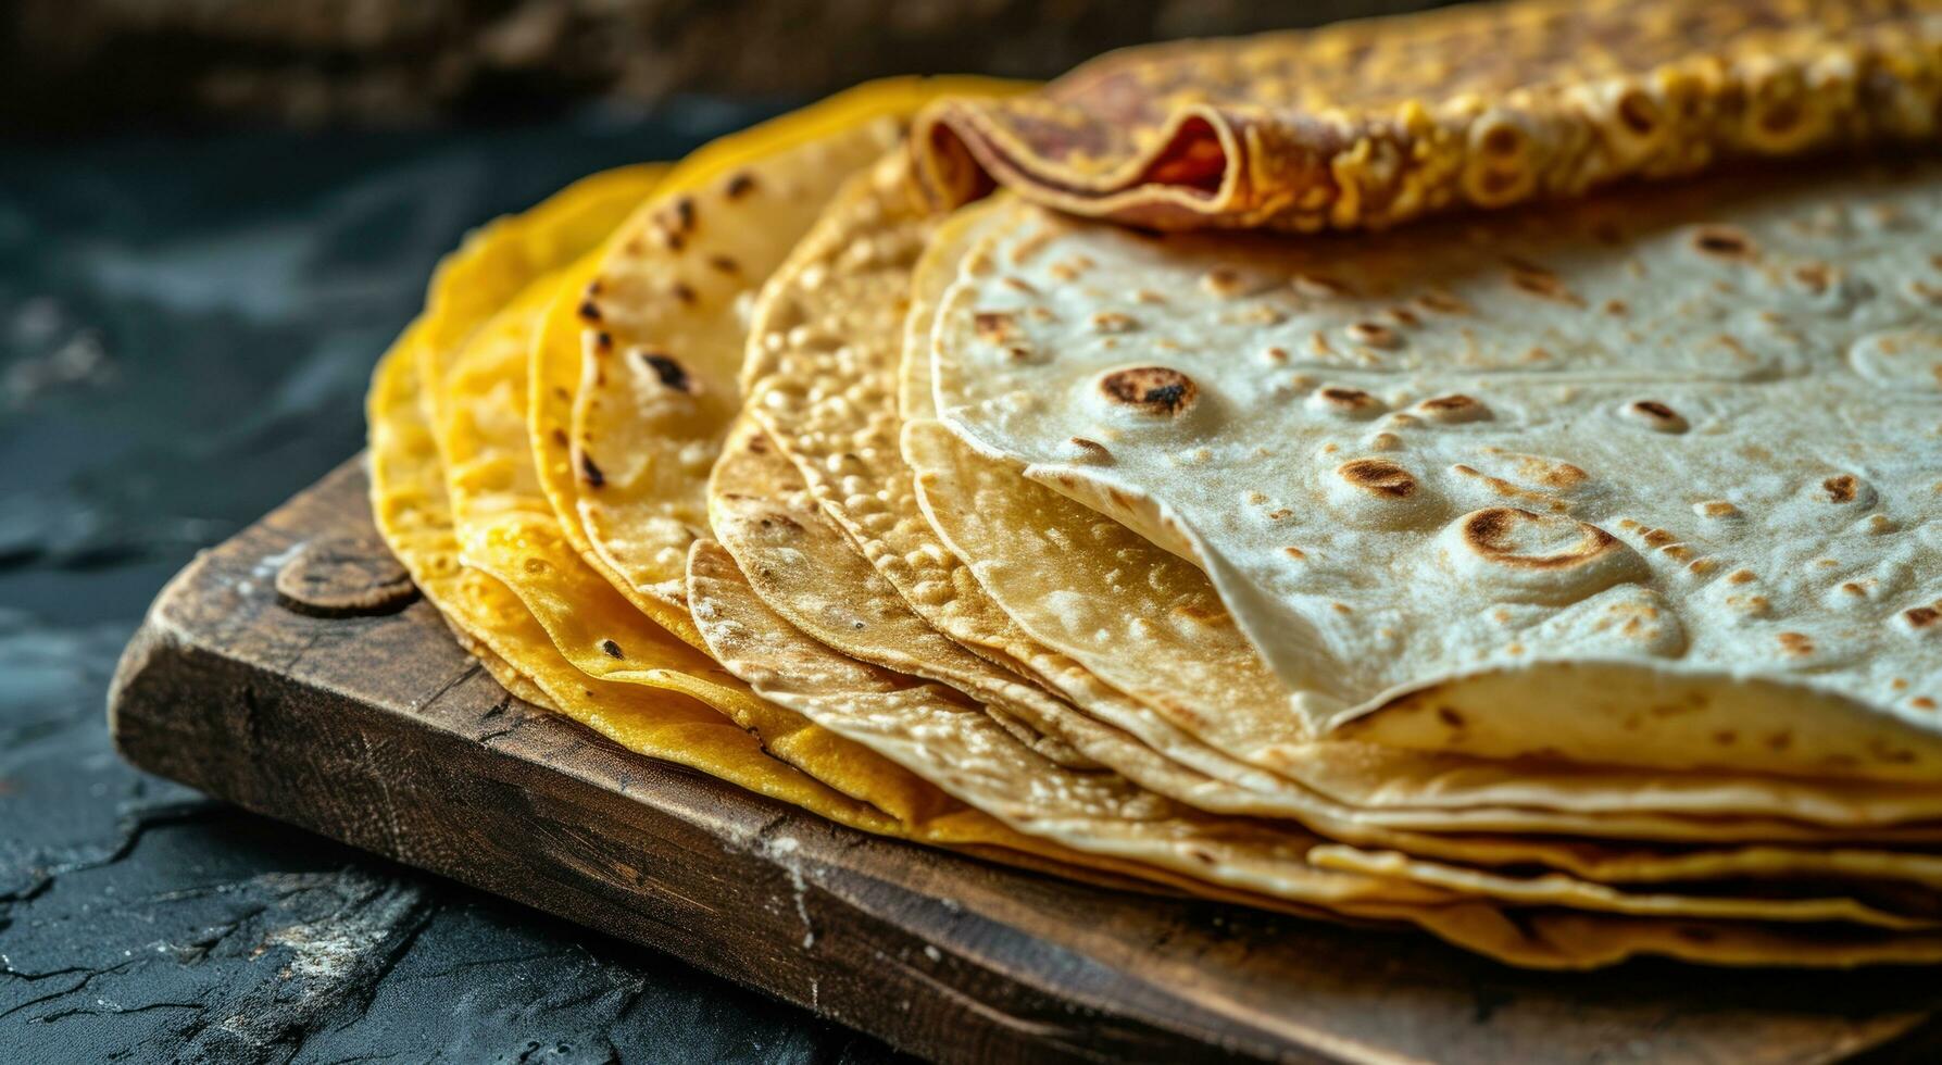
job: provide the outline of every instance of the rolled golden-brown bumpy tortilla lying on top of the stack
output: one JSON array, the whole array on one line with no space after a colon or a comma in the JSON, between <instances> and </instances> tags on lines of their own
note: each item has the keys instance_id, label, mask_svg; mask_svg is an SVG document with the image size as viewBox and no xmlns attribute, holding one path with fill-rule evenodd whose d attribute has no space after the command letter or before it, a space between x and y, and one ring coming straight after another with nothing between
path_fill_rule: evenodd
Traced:
<instances>
[{"instance_id":1,"label":"rolled golden-brown bumpy tortilla lying on top of the stack","mask_svg":"<svg viewBox=\"0 0 1942 1065\"><path fill-rule=\"evenodd\" d=\"M992 179L1161 229L1379 227L1934 136L1932 2L1515 0L1128 49L1043 91L944 101L948 204Z\"/></svg>"}]
</instances>

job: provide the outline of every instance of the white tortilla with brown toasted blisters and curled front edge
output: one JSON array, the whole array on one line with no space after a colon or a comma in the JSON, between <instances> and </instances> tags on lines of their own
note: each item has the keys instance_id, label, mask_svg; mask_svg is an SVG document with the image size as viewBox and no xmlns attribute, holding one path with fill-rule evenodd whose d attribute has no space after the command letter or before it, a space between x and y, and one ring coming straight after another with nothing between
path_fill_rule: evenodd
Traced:
<instances>
[{"instance_id":1,"label":"white tortilla with brown toasted blisters and curled front edge","mask_svg":"<svg viewBox=\"0 0 1942 1065\"><path fill-rule=\"evenodd\" d=\"M1928 785L1934 173L1356 241L1041 216L967 257L938 410L1200 564L1336 737Z\"/></svg>"}]
</instances>

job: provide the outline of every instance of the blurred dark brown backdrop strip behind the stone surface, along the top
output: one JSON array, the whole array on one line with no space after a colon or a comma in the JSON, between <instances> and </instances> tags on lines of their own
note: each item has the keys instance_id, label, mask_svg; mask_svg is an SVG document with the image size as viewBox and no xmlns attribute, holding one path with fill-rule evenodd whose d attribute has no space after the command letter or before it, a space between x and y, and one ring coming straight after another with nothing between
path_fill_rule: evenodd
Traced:
<instances>
[{"instance_id":1,"label":"blurred dark brown backdrop strip behind the stone surface, along the top","mask_svg":"<svg viewBox=\"0 0 1942 1065\"><path fill-rule=\"evenodd\" d=\"M6 0L0 126L425 122L602 97L1051 78L1101 51L1435 0Z\"/></svg>"}]
</instances>

